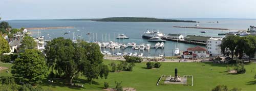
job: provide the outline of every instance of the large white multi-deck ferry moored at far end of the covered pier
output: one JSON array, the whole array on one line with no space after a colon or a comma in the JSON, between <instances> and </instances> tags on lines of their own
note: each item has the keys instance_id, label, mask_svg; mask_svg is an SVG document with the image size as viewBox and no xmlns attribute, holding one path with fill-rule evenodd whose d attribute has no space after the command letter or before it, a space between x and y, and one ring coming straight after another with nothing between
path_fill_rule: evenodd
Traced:
<instances>
[{"instance_id":1,"label":"large white multi-deck ferry moored at far end of the covered pier","mask_svg":"<svg viewBox=\"0 0 256 91\"><path fill-rule=\"evenodd\" d=\"M147 30L147 31L144 32L144 34L142 35L143 38L147 38L147 39L152 38L152 37L154 37L154 36L157 36L157 37L162 38L162 37L164 36L164 34L161 33L161 32L159 32L159 30L157 30L157 31L152 31L152 32L150 32L150 31Z\"/></svg>"}]
</instances>

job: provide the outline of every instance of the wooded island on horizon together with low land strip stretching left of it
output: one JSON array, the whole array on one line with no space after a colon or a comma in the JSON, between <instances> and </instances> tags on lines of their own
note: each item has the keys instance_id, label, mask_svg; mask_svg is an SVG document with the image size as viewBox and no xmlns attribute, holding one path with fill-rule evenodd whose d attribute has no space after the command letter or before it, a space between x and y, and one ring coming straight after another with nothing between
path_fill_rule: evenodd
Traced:
<instances>
[{"instance_id":1,"label":"wooded island on horizon together with low land strip stretching left of it","mask_svg":"<svg viewBox=\"0 0 256 91\"><path fill-rule=\"evenodd\" d=\"M192 20L160 19L148 17L109 17L109 18L80 18L80 19L29 19L29 20L91 20L91 21L122 21L122 22L196 22Z\"/></svg>"}]
</instances>

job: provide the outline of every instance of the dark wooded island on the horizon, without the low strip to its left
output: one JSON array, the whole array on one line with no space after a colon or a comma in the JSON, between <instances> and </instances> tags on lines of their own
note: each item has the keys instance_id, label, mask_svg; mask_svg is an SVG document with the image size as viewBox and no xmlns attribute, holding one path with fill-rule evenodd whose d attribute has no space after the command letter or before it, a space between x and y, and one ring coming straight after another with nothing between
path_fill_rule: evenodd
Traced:
<instances>
[{"instance_id":1,"label":"dark wooded island on the horizon, without the low strip to its left","mask_svg":"<svg viewBox=\"0 0 256 91\"><path fill-rule=\"evenodd\" d=\"M93 21L125 21L125 22L196 22L192 20L177 20L177 19L159 19L148 17L110 17L102 19L94 19Z\"/></svg>"}]
</instances>

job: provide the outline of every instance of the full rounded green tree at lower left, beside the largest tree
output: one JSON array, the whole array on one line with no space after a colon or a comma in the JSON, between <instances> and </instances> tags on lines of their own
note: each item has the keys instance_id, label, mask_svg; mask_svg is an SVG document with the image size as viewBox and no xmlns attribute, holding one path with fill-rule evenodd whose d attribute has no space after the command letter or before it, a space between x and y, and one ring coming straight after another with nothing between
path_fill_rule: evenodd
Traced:
<instances>
[{"instance_id":1,"label":"full rounded green tree at lower left, beside the largest tree","mask_svg":"<svg viewBox=\"0 0 256 91\"><path fill-rule=\"evenodd\" d=\"M35 49L25 50L14 61L11 73L13 77L22 82L40 83L48 76L48 67L44 55Z\"/></svg>"}]
</instances>

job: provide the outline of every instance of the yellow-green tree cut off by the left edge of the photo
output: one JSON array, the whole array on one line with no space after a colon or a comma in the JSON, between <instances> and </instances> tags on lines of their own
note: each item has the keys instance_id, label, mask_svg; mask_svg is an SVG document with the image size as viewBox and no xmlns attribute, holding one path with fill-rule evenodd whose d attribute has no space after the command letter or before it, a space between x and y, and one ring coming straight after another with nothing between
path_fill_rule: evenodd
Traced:
<instances>
[{"instance_id":1,"label":"yellow-green tree cut off by the left edge of the photo","mask_svg":"<svg viewBox=\"0 0 256 91\"><path fill-rule=\"evenodd\" d=\"M0 35L2 35L0 33ZM7 40L5 40L2 36L0 37L0 54L9 53L10 46Z\"/></svg>"}]
</instances>

